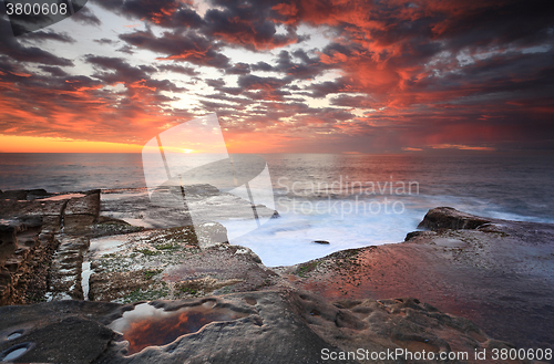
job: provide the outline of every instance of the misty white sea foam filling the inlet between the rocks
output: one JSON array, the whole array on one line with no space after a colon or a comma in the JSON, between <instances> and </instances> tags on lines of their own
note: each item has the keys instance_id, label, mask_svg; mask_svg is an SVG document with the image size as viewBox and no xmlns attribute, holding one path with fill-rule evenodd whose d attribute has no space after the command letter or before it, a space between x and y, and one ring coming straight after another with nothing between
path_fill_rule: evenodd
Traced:
<instances>
[{"instance_id":1,"label":"misty white sea foam filling the inlet between the rocks","mask_svg":"<svg viewBox=\"0 0 554 364\"><path fill-rule=\"evenodd\" d=\"M290 266L343 249L403 241L407 232L416 230L421 220L417 210L398 215L341 215L302 214L291 209L283 212L281 209L279 214L280 218L270 219L230 242L250 248L268 267ZM326 240L329 245L315 243L315 240Z\"/></svg>"}]
</instances>

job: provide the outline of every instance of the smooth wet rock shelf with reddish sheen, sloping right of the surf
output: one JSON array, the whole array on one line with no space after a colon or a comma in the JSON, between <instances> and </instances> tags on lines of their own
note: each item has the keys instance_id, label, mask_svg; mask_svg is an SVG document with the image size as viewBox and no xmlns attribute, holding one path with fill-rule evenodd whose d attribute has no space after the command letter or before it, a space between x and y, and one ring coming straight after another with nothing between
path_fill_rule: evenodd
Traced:
<instances>
[{"instance_id":1,"label":"smooth wet rock shelf with reddish sheen, sloping right of the surf","mask_svg":"<svg viewBox=\"0 0 554 364\"><path fill-rule=\"evenodd\" d=\"M434 221L475 221L450 208L429 215L437 217ZM453 223L465 229L439 223L435 230L410 233L403 243L339 251L276 271L294 287L329 300L414 297L471 319L517 347L550 347L554 226L486 221L473 229L468 229L473 222Z\"/></svg>"}]
</instances>

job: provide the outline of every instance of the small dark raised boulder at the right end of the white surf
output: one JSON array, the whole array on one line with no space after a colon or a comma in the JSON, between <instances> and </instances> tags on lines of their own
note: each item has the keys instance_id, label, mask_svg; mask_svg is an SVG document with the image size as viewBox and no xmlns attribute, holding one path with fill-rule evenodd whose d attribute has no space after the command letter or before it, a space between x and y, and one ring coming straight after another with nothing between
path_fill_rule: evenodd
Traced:
<instances>
[{"instance_id":1,"label":"small dark raised boulder at the right end of the white surf","mask_svg":"<svg viewBox=\"0 0 554 364\"><path fill-rule=\"evenodd\" d=\"M418 228L430 230L437 229L476 229L483 223L491 220L483 219L479 216L458 211L451 207L437 207L427 212L423 221Z\"/></svg>"}]
</instances>

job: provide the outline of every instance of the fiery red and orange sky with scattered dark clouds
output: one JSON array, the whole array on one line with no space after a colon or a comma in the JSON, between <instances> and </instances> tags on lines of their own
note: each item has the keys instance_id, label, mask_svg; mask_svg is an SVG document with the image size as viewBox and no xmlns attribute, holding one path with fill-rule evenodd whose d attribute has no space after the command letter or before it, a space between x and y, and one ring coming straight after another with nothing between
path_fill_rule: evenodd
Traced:
<instances>
[{"instance_id":1,"label":"fiery red and orange sky with scattered dark clouds","mask_svg":"<svg viewBox=\"0 0 554 364\"><path fill-rule=\"evenodd\" d=\"M136 152L216 113L232 153L554 149L554 1L90 0L14 37L0 152Z\"/></svg>"}]
</instances>

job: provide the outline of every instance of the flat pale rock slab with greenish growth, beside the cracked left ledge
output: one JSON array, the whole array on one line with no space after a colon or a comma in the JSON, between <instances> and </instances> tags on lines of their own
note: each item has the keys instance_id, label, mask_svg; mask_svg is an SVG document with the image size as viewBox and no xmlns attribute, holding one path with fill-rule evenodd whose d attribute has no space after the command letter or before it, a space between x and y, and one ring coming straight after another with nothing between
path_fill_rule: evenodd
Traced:
<instances>
[{"instance_id":1,"label":"flat pale rock slab with greenish growth, beside the cracked left ledge","mask_svg":"<svg viewBox=\"0 0 554 364\"><path fill-rule=\"evenodd\" d=\"M93 268L90 299L179 299L283 284L250 249L228 243L202 245L194 231L183 227L93 239L88 258Z\"/></svg>"}]
</instances>

